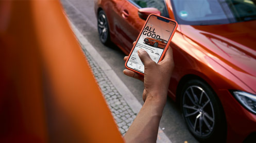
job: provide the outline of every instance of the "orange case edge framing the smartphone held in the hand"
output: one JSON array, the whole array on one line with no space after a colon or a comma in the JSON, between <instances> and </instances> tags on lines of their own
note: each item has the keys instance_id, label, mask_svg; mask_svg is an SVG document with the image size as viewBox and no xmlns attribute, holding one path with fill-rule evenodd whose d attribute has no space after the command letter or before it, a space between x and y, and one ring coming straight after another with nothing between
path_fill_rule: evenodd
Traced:
<instances>
[{"instance_id":1,"label":"orange case edge framing the smartphone held in the hand","mask_svg":"<svg viewBox=\"0 0 256 143\"><path fill-rule=\"evenodd\" d=\"M165 54L165 52L167 51L167 49L168 49L168 47L169 47L170 41L172 40L172 38L173 38L173 36L174 36L174 33L176 32L176 29L177 29L177 27L178 27L178 23L177 23L176 21L172 20L172 19L169 19L169 18L160 16L160 15L157 15L157 14L153 14L153 13L150 14L150 15L148 15L147 20L146 20L146 22L144 23L144 26L143 26L143 28L141 29L141 32L140 32L138 38L136 39L136 42L135 42L135 44L133 45L133 47L132 47L132 49L131 49L131 52L130 52L130 54L129 54L129 56L128 56L126 62L125 62L125 67L126 67L126 69L129 69L129 70L131 70L131 71L134 71L134 72L136 72L136 73L139 73L140 75L143 75L143 76L144 76L144 73L129 68L129 67L127 66L127 62L128 62L128 60L130 59L130 56L131 56L131 54L132 54L132 52L133 52L133 50L134 50L134 48L135 48L135 45L138 43L138 40L139 40L139 38L141 37L142 31L144 30L144 28L145 28L145 26L146 26L146 24L147 24L147 22L148 22L148 19L150 18L151 15L155 15L155 16L158 16L158 17L162 17L162 18L168 19L169 21L172 21L172 22L174 22L174 23L176 24L175 27L174 27L173 33L172 33L172 35L170 35L170 38L169 38L169 40L168 40L168 43L166 44L166 47L164 48L164 51L163 51L163 53L162 53L162 55L161 55L161 57L160 57L160 59L159 59L159 62L163 59L164 54ZM159 21L160 21L160 20L159 20ZM159 62L158 62L158 63L159 63Z\"/></svg>"}]
</instances>

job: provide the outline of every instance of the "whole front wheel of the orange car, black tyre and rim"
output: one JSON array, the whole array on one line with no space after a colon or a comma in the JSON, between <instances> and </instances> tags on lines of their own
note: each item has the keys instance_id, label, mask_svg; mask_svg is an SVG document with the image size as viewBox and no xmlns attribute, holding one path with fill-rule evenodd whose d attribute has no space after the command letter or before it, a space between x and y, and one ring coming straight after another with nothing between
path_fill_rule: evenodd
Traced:
<instances>
[{"instance_id":1,"label":"whole front wheel of the orange car, black tyre and rim","mask_svg":"<svg viewBox=\"0 0 256 143\"><path fill-rule=\"evenodd\" d=\"M181 109L186 125L202 142L224 142L226 118L214 91L201 80L190 80L181 90Z\"/></svg>"}]
</instances>

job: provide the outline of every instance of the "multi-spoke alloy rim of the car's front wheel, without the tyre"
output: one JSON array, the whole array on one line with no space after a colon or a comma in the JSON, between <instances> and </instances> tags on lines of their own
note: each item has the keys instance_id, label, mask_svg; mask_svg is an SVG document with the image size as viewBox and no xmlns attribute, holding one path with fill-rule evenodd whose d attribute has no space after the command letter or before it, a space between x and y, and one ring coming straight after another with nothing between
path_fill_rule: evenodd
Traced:
<instances>
[{"instance_id":1,"label":"multi-spoke alloy rim of the car's front wheel, without the tyre","mask_svg":"<svg viewBox=\"0 0 256 143\"><path fill-rule=\"evenodd\" d=\"M213 104L199 86L189 86L182 98L184 118L191 131L201 137L210 135L215 124Z\"/></svg>"}]
</instances>

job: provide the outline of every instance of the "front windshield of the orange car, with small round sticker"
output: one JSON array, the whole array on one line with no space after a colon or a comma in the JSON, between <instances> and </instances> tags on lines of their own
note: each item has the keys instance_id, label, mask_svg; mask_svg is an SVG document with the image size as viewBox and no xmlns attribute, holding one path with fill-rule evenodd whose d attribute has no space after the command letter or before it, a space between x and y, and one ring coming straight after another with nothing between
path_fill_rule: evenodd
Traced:
<instances>
[{"instance_id":1,"label":"front windshield of the orange car, with small round sticker","mask_svg":"<svg viewBox=\"0 0 256 143\"><path fill-rule=\"evenodd\" d=\"M256 19L251 0L170 0L176 21L184 25L217 25Z\"/></svg>"}]
</instances>

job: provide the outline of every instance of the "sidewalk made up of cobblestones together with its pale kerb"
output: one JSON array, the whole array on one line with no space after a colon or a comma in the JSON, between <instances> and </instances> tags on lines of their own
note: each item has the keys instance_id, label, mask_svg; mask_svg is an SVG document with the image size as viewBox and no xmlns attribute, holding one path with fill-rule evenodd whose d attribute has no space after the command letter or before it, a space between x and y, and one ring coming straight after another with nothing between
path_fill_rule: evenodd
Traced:
<instances>
[{"instance_id":1,"label":"sidewalk made up of cobblestones together with its pale kerb","mask_svg":"<svg viewBox=\"0 0 256 143\"><path fill-rule=\"evenodd\" d=\"M101 92L106 98L119 131L124 135L142 105L71 21L70 24L86 55ZM160 128L157 142L171 142Z\"/></svg>"}]
</instances>

